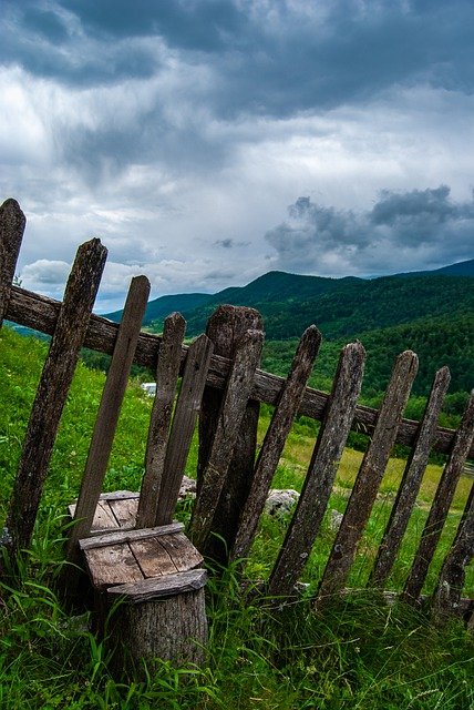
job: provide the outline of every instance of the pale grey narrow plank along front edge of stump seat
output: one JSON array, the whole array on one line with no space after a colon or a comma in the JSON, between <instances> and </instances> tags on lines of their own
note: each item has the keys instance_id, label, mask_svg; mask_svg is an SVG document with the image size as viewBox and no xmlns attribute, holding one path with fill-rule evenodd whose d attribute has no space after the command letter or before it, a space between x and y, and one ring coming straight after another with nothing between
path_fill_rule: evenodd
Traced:
<instances>
[{"instance_id":1,"label":"pale grey narrow plank along front edge of stump seat","mask_svg":"<svg viewBox=\"0 0 474 710\"><path fill-rule=\"evenodd\" d=\"M202 589L206 581L207 575L204 569L190 569L186 572L166 575L165 577L151 577L135 584L111 587L107 589L107 594L112 599L123 596L131 604L138 604L159 597L196 591Z\"/></svg>"}]
</instances>

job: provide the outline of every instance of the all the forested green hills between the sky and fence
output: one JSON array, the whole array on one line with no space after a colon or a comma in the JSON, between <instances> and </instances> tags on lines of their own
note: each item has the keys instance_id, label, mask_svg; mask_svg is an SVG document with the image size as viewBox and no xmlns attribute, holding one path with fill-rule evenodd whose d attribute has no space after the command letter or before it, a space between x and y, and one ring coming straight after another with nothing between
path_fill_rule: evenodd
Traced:
<instances>
[{"instance_id":1,"label":"all the forested green hills between the sky and fence","mask_svg":"<svg viewBox=\"0 0 474 710\"><path fill-rule=\"evenodd\" d=\"M161 332L163 318L179 311L187 321L187 335L197 335L217 305L253 306L264 317L264 366L276 374L287 372L295 352L296 343L287 343L287 347L282 341L298 338L315 323L323 335L319 369L328 379L319 383L322 388L328 386L341 345L359 338L368 351L367 393L384 388L393 358L408 348L420 357L415 394L429 393L442 365L451 369L450 392L466 393L474 385L473 276L474 260L436 272L372 280L269 272L247 286L215 295L157 298L147 306L145 325ZM120 320L120 313L112 315Z\"/></svg>"}]
</instances>

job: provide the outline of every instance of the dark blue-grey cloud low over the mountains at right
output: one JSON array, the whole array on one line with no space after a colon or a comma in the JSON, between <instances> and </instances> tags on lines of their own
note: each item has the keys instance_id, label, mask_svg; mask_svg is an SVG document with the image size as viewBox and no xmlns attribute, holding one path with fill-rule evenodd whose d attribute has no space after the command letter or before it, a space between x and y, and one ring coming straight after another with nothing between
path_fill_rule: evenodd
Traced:
<instances>
[{"instance_id":1,"label":"dark blue-grey cloud low over the mountains at right","mask_svg":"<svg viewBox=\"0 0 474 710\"><path fill-rule=\"evenodd\" d=\"M415 264L420 255L434 266L473 254L474 200L454 203L446 185L385 190L372 210L359 213L299 197L288 215L266 234L286 270L384 273Z\"/></svg>"}]
</instances>

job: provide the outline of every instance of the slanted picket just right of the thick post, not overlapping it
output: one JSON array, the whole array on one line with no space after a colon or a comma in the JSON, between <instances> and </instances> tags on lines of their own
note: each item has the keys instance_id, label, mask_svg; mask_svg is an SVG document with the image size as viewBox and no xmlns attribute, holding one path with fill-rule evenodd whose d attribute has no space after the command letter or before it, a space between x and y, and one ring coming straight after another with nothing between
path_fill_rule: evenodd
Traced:
<instances>
[{"instance_id":1,"label":"slanted picket just right of the thick post, not overlapping it","mask_svg":"<svg viewBox=\"0 0 474 710\"><path fill-rule=\"evenodd\" d=\"M271 479L278 466L291 424L305 394L308 377L321 344L315 325L307 328L299 342L280 400L274 412L258 455L250 490L239 518L239 527L230 559L247 557L257 532Z\"/></svg>"}]
</instances>

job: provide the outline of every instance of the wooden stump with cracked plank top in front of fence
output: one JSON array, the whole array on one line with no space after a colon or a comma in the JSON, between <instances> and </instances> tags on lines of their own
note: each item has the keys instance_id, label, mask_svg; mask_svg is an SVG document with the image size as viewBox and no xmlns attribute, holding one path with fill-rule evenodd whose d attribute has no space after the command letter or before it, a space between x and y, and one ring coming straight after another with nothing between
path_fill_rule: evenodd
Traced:
<instances>
[{"instance_id":1,"label":"wooden stump with cracked plank top in front of fence","mask_svg":"<svg viewBox=\"0 0 474 710\"><path fill-rule=\"evenodd\" d=\"M207 641L203 557L173 523L80 540L99 635L117 671L159 658L202 663ZM117 604L118 602L118 604Z\"/></svg>"}]
</instances>

